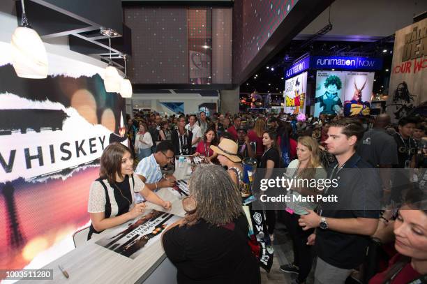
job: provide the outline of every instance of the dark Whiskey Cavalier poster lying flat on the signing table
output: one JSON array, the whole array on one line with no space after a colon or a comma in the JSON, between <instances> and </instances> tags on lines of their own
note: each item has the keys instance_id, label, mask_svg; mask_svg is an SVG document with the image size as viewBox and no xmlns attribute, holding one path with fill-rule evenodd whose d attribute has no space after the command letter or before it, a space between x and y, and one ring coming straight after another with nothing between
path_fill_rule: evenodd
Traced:
<instances>
[{"instance_id":1,"label":"dark Whiskey Cavalier poster lying flat on the signing table","mask_svg":"<svg viewBox=\"0 0 427 284\"><path fill-rule=\"evenodd\" d=\"M156 242L169 225L180 219L179 216L152 210L135 223L119 232L111 232L96 244L110 251L129 257L132 260L144 253L144 250Z\"/></svg>"}]
</instances>

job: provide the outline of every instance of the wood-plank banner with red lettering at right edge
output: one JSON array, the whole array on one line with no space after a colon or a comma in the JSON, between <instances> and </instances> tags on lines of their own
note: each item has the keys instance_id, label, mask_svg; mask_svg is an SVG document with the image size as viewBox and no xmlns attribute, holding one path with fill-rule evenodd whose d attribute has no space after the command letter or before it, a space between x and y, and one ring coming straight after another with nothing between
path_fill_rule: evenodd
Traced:
<instances>
[{"instance_id":1,"label":"wood-plank banner with red lettering at right edge","mask_svg":"<svg viewBox=\"0 0 427 284\"><path fill-rule=\"evenodd\" d=\"M397 123L427 100L427 19L396 31L387 113Z\"/></svg>"}]
</instances>

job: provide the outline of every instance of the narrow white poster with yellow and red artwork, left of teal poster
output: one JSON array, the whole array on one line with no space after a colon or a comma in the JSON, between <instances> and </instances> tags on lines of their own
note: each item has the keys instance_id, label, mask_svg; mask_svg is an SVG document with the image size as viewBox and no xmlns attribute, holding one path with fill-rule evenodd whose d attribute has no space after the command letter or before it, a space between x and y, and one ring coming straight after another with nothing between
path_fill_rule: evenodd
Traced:
<instances>
[{"instance_id":1,"label":"narrow white poster with yellow and red artwork, left of teal poster","mask_svg":"<svg viewBox=\"0 0 427 284\"><path fill-rule=\"evenodd\" d=\"M301 73L285 81L285 113L305 113L307 73Z\"/></svg>"}]
</instances>

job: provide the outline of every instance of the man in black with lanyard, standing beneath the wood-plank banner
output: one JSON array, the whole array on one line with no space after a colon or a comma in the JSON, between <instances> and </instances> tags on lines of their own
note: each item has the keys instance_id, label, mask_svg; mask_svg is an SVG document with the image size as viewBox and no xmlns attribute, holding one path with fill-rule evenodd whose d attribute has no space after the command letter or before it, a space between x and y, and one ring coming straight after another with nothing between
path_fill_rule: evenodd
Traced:
<instances>
[{"instance_id":1,"label":"man in black with lanyard, standing beneath the wood-plank banner","mask_svg":"<svg viewBox=\"0 0 427 284\"><path fill-rule=\"evenodd\" d=\"M415 124L415 119L403 117L398 123L399 132L394 135L397 144L398 163L393 166L396 170L391 188L391 201L395 206L404 200L403 195L411 184L411 171L405 169L415 167L415 158L418 152L417 142L412 138Z\"/></svg>"}]
</instances>

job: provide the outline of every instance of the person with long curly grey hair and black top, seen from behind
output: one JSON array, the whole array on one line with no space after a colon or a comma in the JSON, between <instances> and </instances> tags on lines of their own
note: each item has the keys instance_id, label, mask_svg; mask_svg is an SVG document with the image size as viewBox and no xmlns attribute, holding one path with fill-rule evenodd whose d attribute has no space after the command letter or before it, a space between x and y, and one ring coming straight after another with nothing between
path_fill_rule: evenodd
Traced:
<instances>
[{"instance_id":1,"label":"person with long curly grey hair and black top, seen from behind","mask_svg":"<svg viewBox=\"0 0 427 284\"><path fill-rule=\"evenodd\" d=\"M178 283L261 283L248 245L248 221L230 175L200 165L188 181L186 216L163 234L163 248L177 267Z\"/></svg>"}]
</instances>

